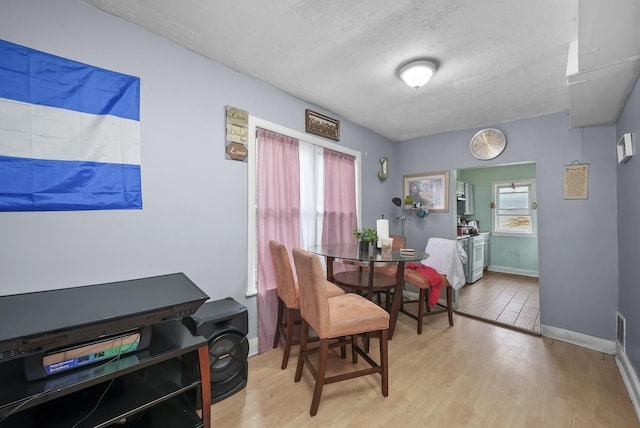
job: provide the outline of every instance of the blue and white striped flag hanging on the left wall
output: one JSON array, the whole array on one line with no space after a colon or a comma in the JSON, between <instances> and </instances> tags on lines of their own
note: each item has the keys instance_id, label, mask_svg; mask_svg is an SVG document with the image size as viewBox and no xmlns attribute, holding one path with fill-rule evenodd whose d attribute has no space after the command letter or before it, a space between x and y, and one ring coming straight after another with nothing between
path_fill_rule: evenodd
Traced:
<instances>
[{"instance_id":1,"label":"blue and white striped flag hanging on the left wall","mask_svg":"<svg viewBox=\"0 0 640 428\"><path fill-rule=\"evenodd\" d=\"M0 40L0 211L141 208L140 79Z\"/></svg>"}]
</instances>

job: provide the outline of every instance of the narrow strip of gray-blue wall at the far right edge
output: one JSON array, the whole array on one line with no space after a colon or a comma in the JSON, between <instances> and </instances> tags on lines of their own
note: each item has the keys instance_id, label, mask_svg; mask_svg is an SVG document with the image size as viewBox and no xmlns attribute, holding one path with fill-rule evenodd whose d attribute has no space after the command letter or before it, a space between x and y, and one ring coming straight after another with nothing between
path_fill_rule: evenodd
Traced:
<instances>
[{"instance_id":1,"label":"narrow strip of gray-blue wall at the far right edge","mask_svg":"<svg viewBox=\"0 0 640 428\"><path fill-rule=\"evenodd\" d=\"M618 178L618 306L627 321L626 354L640 370L640 81L618 119L616 137L630 132L636 153L617 167Z\"/></svg>"}]
</instances>

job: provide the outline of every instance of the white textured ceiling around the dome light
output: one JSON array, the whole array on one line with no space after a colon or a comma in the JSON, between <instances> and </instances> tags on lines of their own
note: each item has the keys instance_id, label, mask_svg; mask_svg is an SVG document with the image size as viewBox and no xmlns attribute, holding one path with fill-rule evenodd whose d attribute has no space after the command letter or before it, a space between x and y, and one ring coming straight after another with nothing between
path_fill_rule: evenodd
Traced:
<instances>
[{"instance_id":1,"label":"white textured ceiling around the dome light","mask_svg":"<svg viewBox=\"0 0 640 428\"><path fill-rule=\"evenodd\" d=\"M392 141L570 108L567 59L579 36L578 0L85 2ZM613 13L613 5L622 10ZM631 65L609 103L617 111L600 112L597 100L576 106L589 116L577 126L613 123L638 73L640 7L638 0L580 0L583 11L592 22L580 36L588 31L584 38L594 49L608 50L599 45L603 38L631 45L624 58L606 58L604 65L597 59L602 52L590 58L596 65L589 69ZM603 36L596 16L605 23L625 16L634 26L620 34L600 31ZM416 58L438 64L431 82L418 89L397 77L398 68ZM572 96L589 99L590 85L580 74Z\"/></svg>"}]
</instances>

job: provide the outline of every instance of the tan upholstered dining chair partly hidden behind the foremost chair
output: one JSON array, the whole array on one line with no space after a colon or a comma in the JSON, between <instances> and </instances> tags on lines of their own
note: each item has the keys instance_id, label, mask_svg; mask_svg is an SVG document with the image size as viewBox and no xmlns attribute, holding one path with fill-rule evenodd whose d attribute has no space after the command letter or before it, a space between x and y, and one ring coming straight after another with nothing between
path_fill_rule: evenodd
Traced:
<instances>
[{"instance_id":1,"label":"tan upholstered dining chair partly hidden behind the foremost chair","mask_svg":"<svg viewBox=\"0 0 640 428\"><path fill-rule=\"evenodd\" d=\"M291 259L289 258L287 247L278 241L271 240L269 241L269 249L271 250L273 268L276 273L276 294L278 295L278 315L273 347L278 347L280 336L282 335L285 343L280 368L284 370L289 362L291 346L300 343L299 340L294 339L297 313L300 310L300 293L298 283L295 281L293 270L291 269ZM324 286L328 296L344 294L344 290L329 281L325 280ZM286 319L285 308L287 310Z\"/></svg>"}]
</instances>

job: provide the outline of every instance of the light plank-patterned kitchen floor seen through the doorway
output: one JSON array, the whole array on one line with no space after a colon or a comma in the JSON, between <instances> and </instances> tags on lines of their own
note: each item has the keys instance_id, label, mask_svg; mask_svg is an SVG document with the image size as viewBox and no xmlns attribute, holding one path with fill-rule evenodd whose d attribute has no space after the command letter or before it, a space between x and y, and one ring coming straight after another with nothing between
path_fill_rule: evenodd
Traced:
<instances>
[{"instance_id":1,"label":"light plank-patterned kitchen floor seen through the doorway","mask_svg":"<svg viewBox=\"0 0 640 428\"><path fill-rule=\"evenodd\" d=\"M485 271L460 289L458 312L540 334L538 278Z\"/></svg>"}]
</instances>

